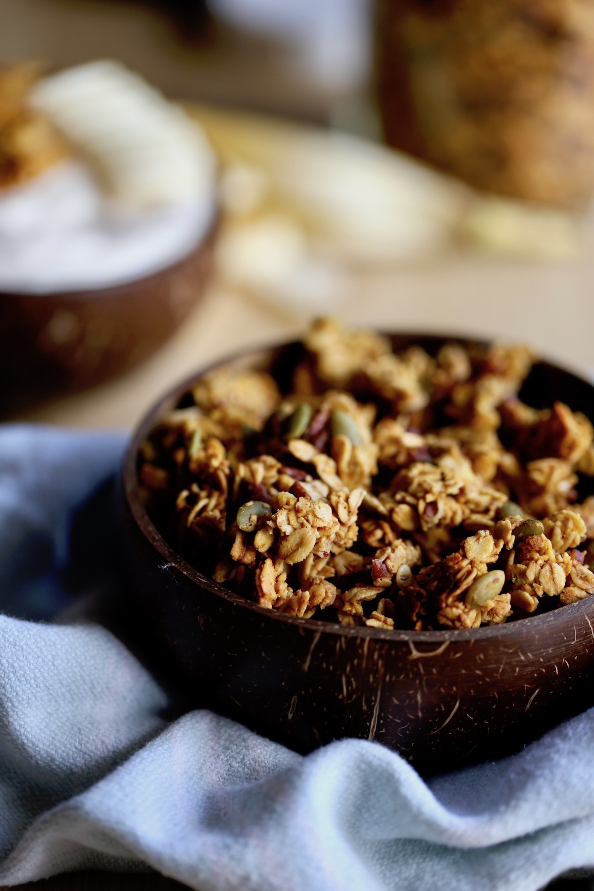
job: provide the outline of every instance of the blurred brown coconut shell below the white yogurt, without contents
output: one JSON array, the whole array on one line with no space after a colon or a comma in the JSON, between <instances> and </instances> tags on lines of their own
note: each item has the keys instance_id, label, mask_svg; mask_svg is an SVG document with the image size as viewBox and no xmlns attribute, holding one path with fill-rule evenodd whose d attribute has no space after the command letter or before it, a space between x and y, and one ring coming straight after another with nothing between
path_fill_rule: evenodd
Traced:
<instances>
[{"instance_id":1,"label":"blurred brown coconut shell below the white yogurt, without contents","mask_svg":"<svg viewBox=\"0 0 594 891\"><path fill-rule=\"evenodd\" d=\"M175 264L133 282L0 293L0 416L94 387L151 356L201 297L215 228Z\"/></svg>"}]
</instances>

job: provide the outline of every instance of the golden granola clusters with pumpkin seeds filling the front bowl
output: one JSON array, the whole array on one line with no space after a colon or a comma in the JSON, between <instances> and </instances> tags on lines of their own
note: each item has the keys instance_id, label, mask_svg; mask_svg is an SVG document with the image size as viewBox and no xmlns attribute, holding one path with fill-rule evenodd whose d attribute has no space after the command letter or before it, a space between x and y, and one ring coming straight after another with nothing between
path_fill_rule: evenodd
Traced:
<instances>
[{"instance_id":1,"label":"golden granola clusters with pumpkin seeds filling the front bowl","mask_svg":"<svg viewBox=\"0 0 594 891\"><path fill-rule=\"evenodd\" d=\"M210 372L143 443L151 514L261 606L375 628L497 625L594 593L594 429L517 393L526 347L394 352L321 320L303 357Z\"/></svg>"}]
</instances>

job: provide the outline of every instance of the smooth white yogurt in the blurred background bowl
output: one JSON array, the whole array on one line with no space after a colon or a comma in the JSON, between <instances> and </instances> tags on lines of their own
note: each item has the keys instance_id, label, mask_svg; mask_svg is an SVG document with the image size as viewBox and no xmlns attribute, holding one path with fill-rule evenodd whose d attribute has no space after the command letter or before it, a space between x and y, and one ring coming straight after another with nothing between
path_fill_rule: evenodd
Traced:
<instances>
[{"instance_id":1,"label":"smooth white yogurt in the blurred background bowl","mask_svg":"<svg viewBox=\"0 0 594 891\"><path fill-rule=\"evenodd\" d=\"M0 196L0 291L109 288L175 263L204 238L215 184L144 212L115 212L84 165L67 161Z\"/></svg>"}]
</instances>

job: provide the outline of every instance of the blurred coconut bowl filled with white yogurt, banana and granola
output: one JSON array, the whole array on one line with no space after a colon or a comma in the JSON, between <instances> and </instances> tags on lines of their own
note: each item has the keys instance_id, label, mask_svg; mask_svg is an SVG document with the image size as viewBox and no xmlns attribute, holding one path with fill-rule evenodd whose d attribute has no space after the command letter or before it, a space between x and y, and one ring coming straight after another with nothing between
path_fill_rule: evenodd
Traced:
<instances>
[{"instance_id":1,"label":"blurred coconut bowl filled with white yogurt, banana and granola","mask_svg":"<svg viewBox=\"0 0 594 891\"><path fill-rule=\"evenodd\" d=\"M150 356L204 290L216 158L115 62L0 70L0 413Z\"/></svg>"}]
</instances>

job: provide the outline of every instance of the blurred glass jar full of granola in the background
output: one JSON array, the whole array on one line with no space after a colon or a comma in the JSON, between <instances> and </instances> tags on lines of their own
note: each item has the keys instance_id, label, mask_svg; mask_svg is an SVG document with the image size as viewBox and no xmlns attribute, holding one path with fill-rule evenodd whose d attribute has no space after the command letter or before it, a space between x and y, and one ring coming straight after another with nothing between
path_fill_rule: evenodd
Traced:
<instances>
[{"instance_id":1,"label":"blurred glass jar full of granola in the background","mask_svg":"<svg viewBox=\"0 0 594 891\"><path fill-rule=\"evenodd\" d=\"M590 0L376 0L387 142L493 192L594 193Z\"/></svg>"}]
</instances>

